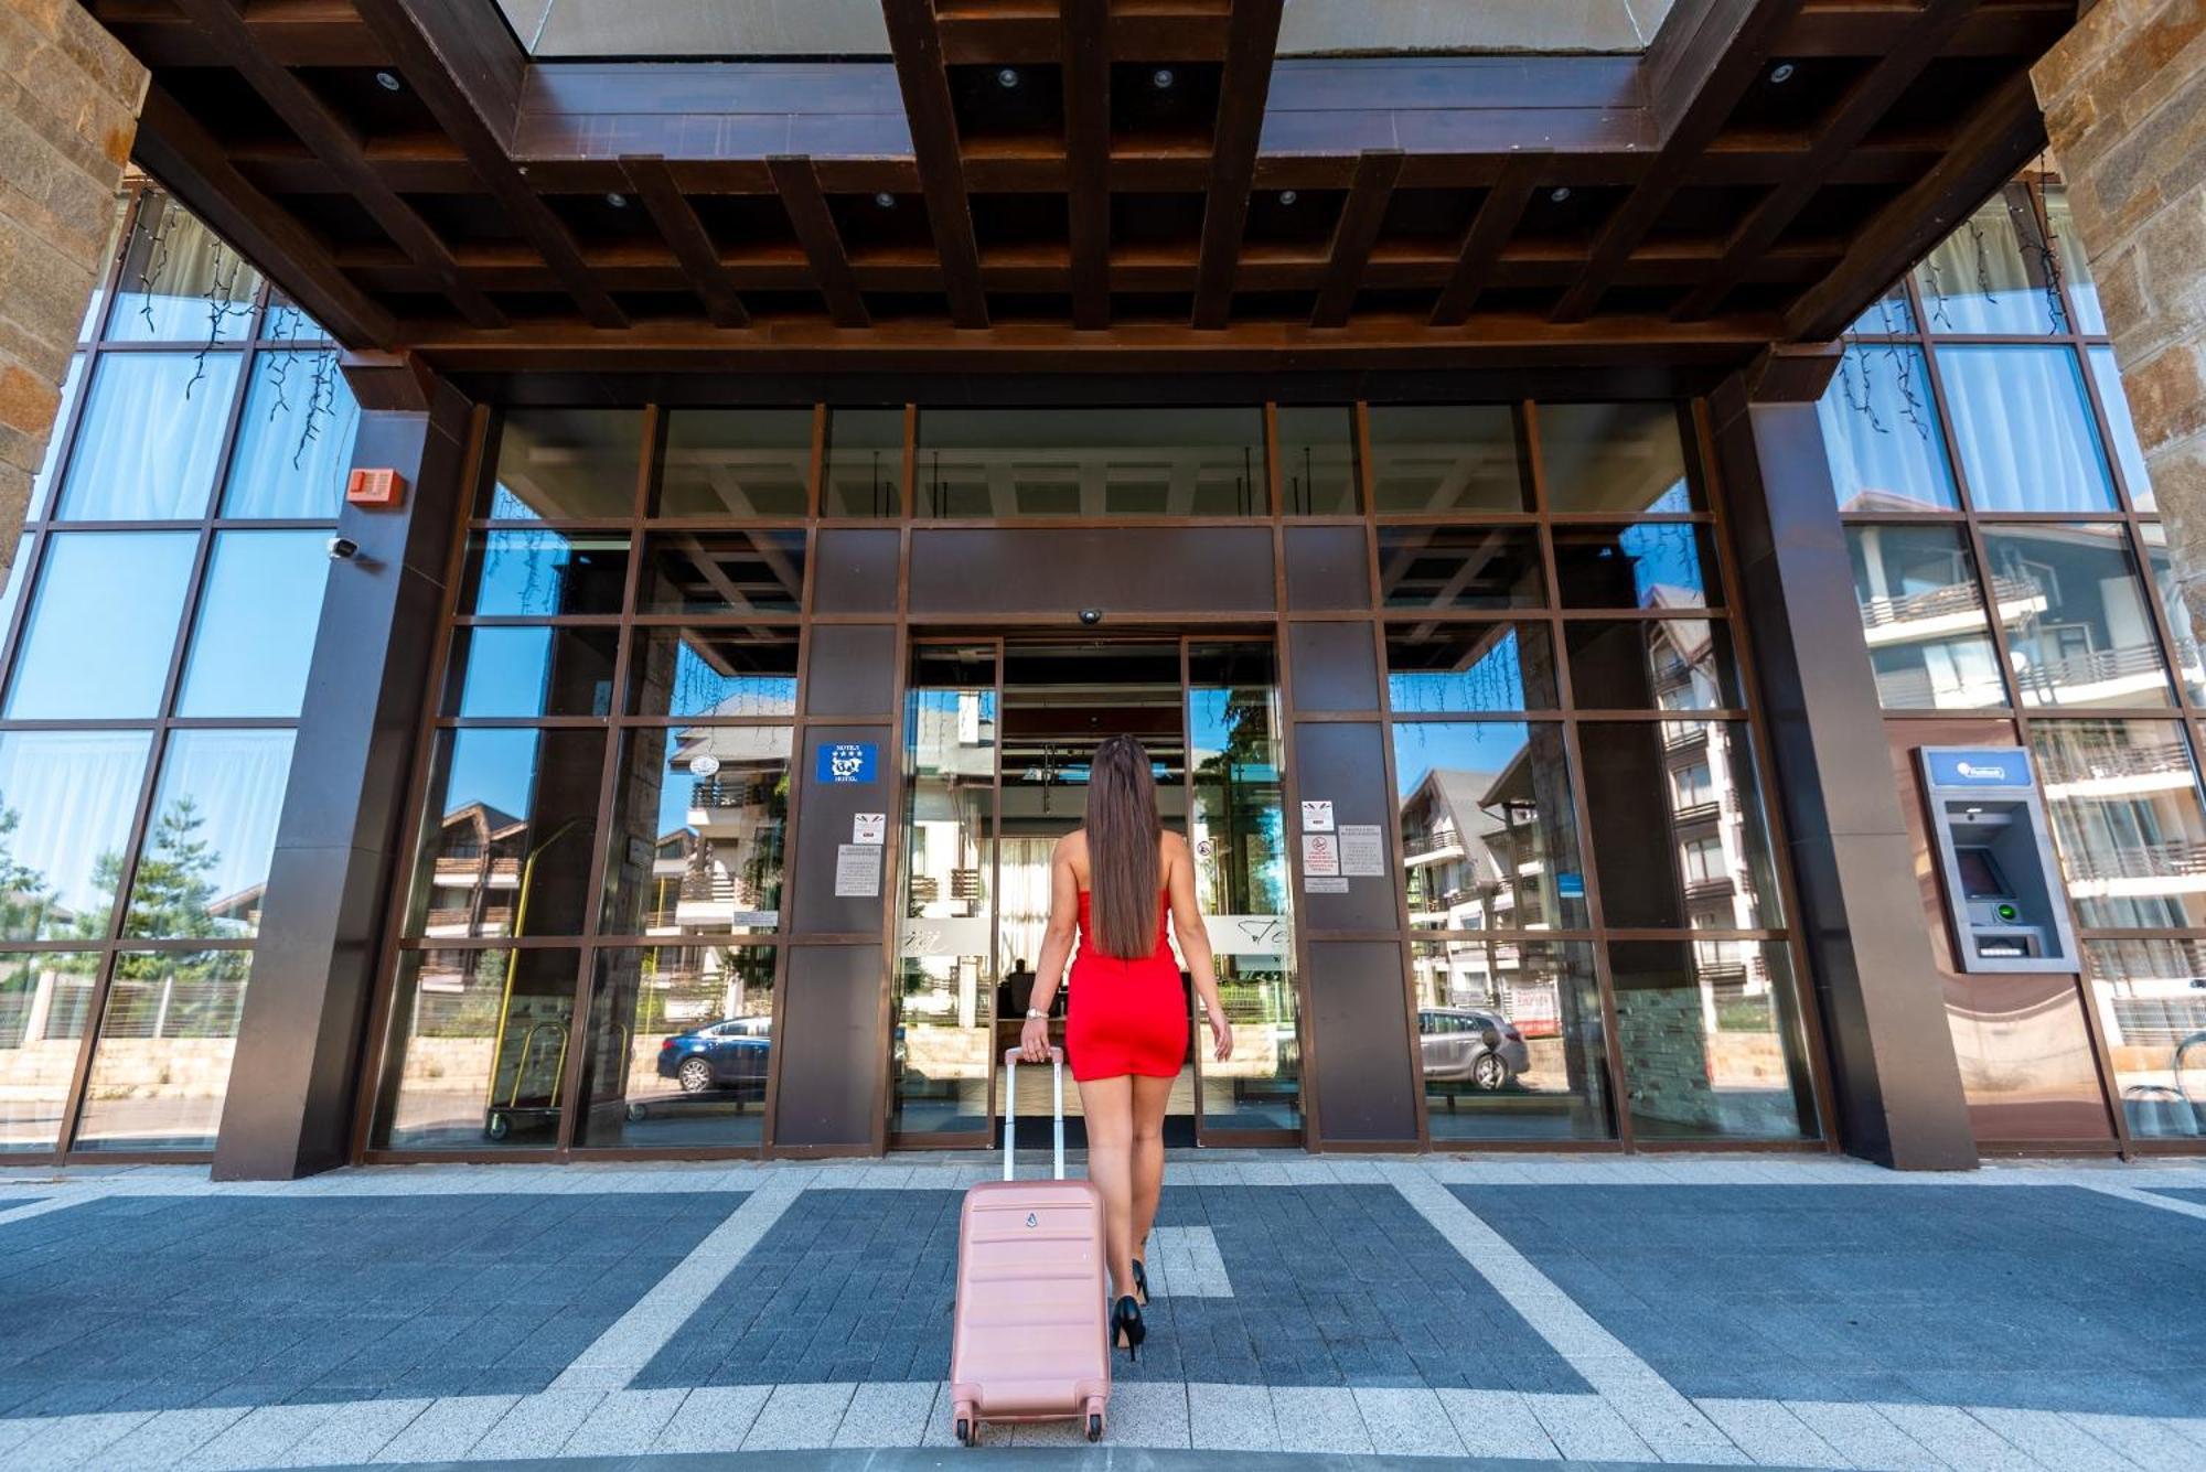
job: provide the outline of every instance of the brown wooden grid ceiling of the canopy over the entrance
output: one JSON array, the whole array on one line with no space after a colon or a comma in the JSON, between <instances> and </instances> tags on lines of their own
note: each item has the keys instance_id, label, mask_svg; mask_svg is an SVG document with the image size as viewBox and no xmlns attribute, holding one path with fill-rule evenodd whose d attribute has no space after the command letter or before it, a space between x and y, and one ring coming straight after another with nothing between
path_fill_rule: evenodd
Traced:
<instances>
[{"instance_id":1,"label":"brown wooden grid ceiling of the canopy over the entrance","mask_svg":"<svg viewBox=\"0 0 2206 1472\"><path fill-rule=\"evenodd\" d=\"M887 62L538 64L492 0L86 4L150 174L346 346L503 372L1741 361L2043 148L2076 18L1279 59L1282 0L882 0Z\"/></svg>"}]
</instances>

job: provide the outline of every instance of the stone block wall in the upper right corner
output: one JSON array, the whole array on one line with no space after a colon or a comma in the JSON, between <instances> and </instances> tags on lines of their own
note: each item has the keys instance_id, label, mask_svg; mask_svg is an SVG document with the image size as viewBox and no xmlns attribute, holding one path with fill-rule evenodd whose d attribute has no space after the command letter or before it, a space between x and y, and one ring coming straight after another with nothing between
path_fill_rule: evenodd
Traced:
<instances>
[{"instance_id":1,"label":"stone block wall in the upper right corner","mask_svg":"<svg viewBox=\"0 0 2206 1472\"><path fill-rule=\"evenodd\" d=\"M2206 0L2098 0L2032 82L2206 632Z\"/></svg>"}]
</instances>

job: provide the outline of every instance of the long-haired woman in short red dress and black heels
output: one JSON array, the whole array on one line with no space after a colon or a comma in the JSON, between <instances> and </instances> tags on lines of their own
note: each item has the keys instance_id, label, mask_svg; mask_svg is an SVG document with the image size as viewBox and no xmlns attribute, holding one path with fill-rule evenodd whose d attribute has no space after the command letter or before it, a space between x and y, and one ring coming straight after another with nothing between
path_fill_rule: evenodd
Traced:
<instances>
[{"instance_id":1,"label":"long-haired woman in short red dress and black heels","mask_svg":"<svg viewBox=\"0 0 2206 1472\"><path fill-rule=\"evenodd\" d=\"M1050 998L1077 939L1065 1060L1088 1122L1088 1179L1103 1192L1112 1333L1127 1353L1145 1335L1149 1280L1141 1258L1165 1190L1165 1102L1187 1064L1187 998L1167 912L1224 1062L1233 1029L1218 1005L1193 857L1156 818L1149 751L1132 736L1112 736L1088 769L1088 824L1050 855L1050 928L1019 1045L1028 1060L1048 1062Z\"/></svg>"}]
</instances>

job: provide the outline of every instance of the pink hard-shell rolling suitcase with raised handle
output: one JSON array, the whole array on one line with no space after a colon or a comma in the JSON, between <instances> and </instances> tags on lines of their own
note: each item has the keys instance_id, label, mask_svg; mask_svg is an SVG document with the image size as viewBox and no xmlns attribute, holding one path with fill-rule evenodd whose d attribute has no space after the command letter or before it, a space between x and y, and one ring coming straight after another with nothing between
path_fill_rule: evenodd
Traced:
<instances>
[{"instance_id":1,"label":"pink hard-shell rolling suitcase with raised handle","mask_svg":"<svg viewBox=\"0 0 2206 1472\"><path fill-rule=\"evenodd\" d=\"M1103 1437L1110 1324L1103 1311L1103 1197L1065 1179L1065 1056L1050 1049L1054 1175L1013 1177L1019 1049L1004 1053L1004 1179L966 1192L957 1219L951 1415L957 1441L982 1421L1077 1421Z\"/></svg>"}]
</instances>

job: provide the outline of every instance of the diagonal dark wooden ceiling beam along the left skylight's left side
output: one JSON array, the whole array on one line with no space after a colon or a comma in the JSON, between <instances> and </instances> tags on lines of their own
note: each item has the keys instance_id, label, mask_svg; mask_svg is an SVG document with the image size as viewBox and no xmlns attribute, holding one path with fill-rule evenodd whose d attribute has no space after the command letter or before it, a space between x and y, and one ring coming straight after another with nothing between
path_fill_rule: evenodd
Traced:
<instances>
[{"instance_id":1,"label":"diagonal dark wooden ceiling beam along the left skylight's left side","mask_svg":"<svg viewBox=\"0 0 2206 1472\"><path fill-rule=\"evenodd\" d=\"M591 278L574 236L505 152L525 57L496 9L470 0L353 2L582 317L593 326L627 326L629 315Z\"/></svg>"}]
</instances>

